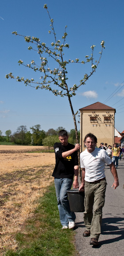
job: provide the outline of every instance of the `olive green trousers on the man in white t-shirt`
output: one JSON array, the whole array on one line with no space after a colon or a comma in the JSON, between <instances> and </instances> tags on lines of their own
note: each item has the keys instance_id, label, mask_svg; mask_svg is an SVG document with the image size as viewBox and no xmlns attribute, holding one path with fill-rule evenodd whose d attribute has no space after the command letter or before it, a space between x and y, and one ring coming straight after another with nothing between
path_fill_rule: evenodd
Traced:
<instances>
[{"instance_id":1,"label":"olive green trousers on the man in white t-shirt","mask_svg":"<svg viewBox=\"0 0 124 256\"><path fill-rule=\"evenodd\" d=\"M90 230L91 238L99 238L101 234L102 207L105 204L106 180L99 183L85 181L84 224Z\"/></svg>"}]
</instances>

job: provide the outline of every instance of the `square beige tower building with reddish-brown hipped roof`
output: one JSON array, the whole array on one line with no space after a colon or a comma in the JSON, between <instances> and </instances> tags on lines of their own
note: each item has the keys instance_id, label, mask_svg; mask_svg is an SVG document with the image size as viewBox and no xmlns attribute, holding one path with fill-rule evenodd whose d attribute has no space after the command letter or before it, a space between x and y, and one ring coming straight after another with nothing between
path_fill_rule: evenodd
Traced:
<instances>
[{"instance_id":1,"label":"square beige tower building with reddish-brown hipped roof","mask_svg":"<svg viewBox=\"0 0 124 256\"><path fill-rule=\"evenodd\" d=\"M114 144L115 113L113 109L101 102L96 102L80 110L81 118L81 151L85 150L84 138L89 132L97 137L97 147L101 142Z\"/></svg>"}]
</instances>

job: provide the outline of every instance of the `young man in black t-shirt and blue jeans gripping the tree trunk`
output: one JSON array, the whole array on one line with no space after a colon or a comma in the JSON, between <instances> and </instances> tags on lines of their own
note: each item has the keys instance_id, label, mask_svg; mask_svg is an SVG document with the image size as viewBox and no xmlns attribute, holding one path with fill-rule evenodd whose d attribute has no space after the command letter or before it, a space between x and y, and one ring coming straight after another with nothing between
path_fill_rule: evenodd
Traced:
<instances>
[{"instance_id":1,"label":"young man in black t-shirt and blue jeans gripping the tree trunk","mask_svg":"<svg viewBox=\"0 0 124 256\"><path fill-rule=\"evenodd\" d=\"M78 188L78 158L77 150L80 145L75 146L68 143L68 134L65 130L58 133L60 143L54 144L56 164L52 176L58 202L58 210L62 229L73 229L75 226L75 213L70 211L67 190L70 190L72 183ZM73 182L74 178L74 182Z\"/></svg>"}]
</instances>

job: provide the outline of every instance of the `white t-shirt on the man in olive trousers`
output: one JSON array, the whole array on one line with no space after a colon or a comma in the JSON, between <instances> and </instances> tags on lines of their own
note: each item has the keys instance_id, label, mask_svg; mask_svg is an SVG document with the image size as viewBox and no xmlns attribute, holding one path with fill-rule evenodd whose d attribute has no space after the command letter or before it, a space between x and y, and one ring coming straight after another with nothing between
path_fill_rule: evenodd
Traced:
<instances>
[{"instance_id":1,"label":"white t-shirt on the man in olive trousers","mask_svg":"<svg viewBox=\"0 0 124 256\"><path fill-rule=\"evenodd\" d=\"M92 153L87 149L80 154L81 168L85 168L85 181L93 182L105 178L105 163L112 160L104 149L95 147Z\"/></svg>"}]
</instances>

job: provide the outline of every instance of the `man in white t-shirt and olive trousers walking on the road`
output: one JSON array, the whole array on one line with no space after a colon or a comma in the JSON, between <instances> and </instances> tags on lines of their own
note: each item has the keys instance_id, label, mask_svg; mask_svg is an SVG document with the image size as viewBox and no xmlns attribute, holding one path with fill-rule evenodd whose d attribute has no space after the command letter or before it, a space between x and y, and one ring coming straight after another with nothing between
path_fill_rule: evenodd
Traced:
<instances>
[{"instance_id":1,"label":"man in white t-shirt and olive trousers walking on the road","mask_svg":"<svg viewBox=\"0 0 124 256\"><path fill-rule=\"evenodd\" d=\"M85 190L84 224L86 227L84 237L91 237L90 244L98 245L101 234L102 207L105 203L105 163L109 165L114 183L112 187L119 186L115 165L104 149L96 147L97 137L92 133L85 136L87 149L80 154L82 168L82 181L80 191Z\"/></svg>"}]
</instances>

